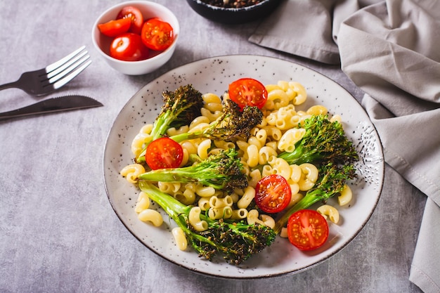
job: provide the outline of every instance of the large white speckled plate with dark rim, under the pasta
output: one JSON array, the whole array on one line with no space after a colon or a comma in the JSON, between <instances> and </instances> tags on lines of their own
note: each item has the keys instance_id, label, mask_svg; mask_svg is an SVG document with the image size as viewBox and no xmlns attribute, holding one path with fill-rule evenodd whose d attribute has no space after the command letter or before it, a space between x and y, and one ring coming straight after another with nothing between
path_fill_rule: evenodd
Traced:
<instances>
[{"instance_id":1,"label":"large white speckled plate with dark rim, under the pasta","mask_svg":"<svg viewBox=\"0 0 440 293\"><path fill-rule=\"evenodd\" d=\"M155 228L137 219L134 211L138 190L128 183L119 171L133 162L130 145L146 122L153 122L162 106L162 92L174 91L185 84L193 84L202 93L221 95L228 84L241 77L259 79L263 84L278 80L302 83L308 93L306 105L325 105L332 114L344 121L347 136L354 141L361 154L359 178L351 185L354 200L349 207L339 208L341 221L330 224L328 242L313 252L300 252L287 239L276 242L240 266L233 266L219 258L212 262L200 259L192 249L180 251L170 230L173 221L164 214L164 224ZM263 56L222 56L199 60L178 67L144 86L122 108L108 134L103 157L105 188L110 204L127 229L146 247L164 259L191 271L221 278L266 278L297 273L325 261L339 252L365 226L376 207L382 190L384 160L377 132L361 105L339 84L328 77L301 65ZM330 200L334 203L335 199ZM157 206L155 206L157 207Z\"/></svg>"}]
</instances>

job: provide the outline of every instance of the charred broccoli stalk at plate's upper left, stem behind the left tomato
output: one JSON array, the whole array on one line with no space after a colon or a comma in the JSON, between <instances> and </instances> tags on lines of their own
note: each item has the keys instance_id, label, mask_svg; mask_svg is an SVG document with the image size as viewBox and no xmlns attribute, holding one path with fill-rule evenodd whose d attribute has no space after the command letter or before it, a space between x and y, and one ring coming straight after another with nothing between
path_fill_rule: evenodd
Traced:
<instances>
[{"instance_id":1,"label":"charred broccoli stalk at plate's upper left, stem behind the left tomato","mask_svg":"<svg viewBox=\"0 0 440 293\"><path fill-rule=\"evenodd\" d=\"M164 105L153 123L151 141L164 136L171 127L190 124L195 117L200 116L200 108L203 106L202 93L190 84L180 86L176 91L164 91L162 96ZM145 162L145 150L146 145L136 157L136 162Z\"/></svg>"}]
</instances>

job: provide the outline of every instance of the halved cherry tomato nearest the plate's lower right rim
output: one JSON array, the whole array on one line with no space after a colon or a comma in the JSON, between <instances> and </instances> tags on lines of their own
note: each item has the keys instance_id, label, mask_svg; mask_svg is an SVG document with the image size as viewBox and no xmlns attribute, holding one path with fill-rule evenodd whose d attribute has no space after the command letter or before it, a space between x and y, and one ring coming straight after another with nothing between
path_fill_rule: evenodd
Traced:
<instances>
[{"instance_id":1,"label":"halved cherry tomato nearest the plate's lower right rim","mask_svg":"<svg viewBox=\"0 0 440 293\"><path fill-rule=\"evenodd\" d=\"M327 220L318 211L301 209L287 221L287 236L298 249L316 249L328 238Z\"/></svg>"}]
</instances>

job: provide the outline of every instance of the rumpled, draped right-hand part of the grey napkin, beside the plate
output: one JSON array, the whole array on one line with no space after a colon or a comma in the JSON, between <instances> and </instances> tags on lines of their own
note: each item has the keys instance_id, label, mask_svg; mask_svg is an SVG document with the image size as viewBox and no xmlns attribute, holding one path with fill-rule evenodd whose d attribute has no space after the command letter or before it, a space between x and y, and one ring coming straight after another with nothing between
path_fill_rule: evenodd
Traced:
<instances>
[{"instance_id":1,"label":"rumpled, draped right-hand part of the grey napkin, beside the plate","mask_svg":"<svg viewBox=\"0 0 440 293\"><path fill-rule=\"evenodd\" d=\"M410 280L440 292L440 1L365 7L342 22L337 44L385 161L428 196Z\"/></svg>"}]
</instances>

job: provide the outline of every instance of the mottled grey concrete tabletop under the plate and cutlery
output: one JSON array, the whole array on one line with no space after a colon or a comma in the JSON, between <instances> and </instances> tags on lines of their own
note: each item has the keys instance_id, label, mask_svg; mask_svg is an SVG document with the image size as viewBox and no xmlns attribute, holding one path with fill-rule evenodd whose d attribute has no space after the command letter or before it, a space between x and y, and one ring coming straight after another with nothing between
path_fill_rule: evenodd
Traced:
<instances>
[{"instance_id":1,"label":"mottled grey concrete tabletop under the plate and cutlery","mask_svg":"<svg viewBox=\"0 0 440 293\"><path fill-rule=\"evenodd\" d=\"M302 273L224 280L169 263L117 218L103 183L105 138L119 110L164 72L212 56L255 54L290 60L334 79L361 100L338 66L247 41L258 21L221 25L186 1L156 0L179 18L169 63L127 76L91 44L91 27L120 1L0 1L0 84L86 45L89 68L47 97L78 93L104 107L0 122L0 292L420 292L408 274L425 195L386 167L382 196L361 233L341 252ZM0 112L34 103L19 89L0 92Z\"/></svg>"}]
</instances>

